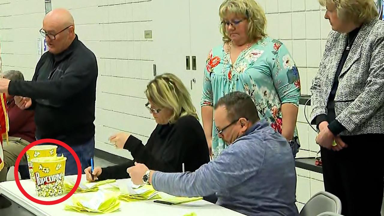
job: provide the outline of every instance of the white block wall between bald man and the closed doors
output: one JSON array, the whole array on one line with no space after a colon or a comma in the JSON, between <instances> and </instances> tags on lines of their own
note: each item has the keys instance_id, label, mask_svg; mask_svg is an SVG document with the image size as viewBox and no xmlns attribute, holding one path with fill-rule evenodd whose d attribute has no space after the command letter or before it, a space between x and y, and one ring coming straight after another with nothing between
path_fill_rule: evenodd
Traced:
<instances>
[{"instance_id":1,"label":"white block wall between bald man and the closed doors","mask_svg":"<svg viewBox=\"0 0 384 216\"><path fill-rule=\"evenodd\" d=\"M52 8L70 9L76 33L98 58L96 95L96 148L131 158L108 143L116 131L126 131L146 143L156 123L144 109L144 90L153 78L151 1L53 0ZM97 16L94 16L97 14Z\"/></svg>"}]
</instances>

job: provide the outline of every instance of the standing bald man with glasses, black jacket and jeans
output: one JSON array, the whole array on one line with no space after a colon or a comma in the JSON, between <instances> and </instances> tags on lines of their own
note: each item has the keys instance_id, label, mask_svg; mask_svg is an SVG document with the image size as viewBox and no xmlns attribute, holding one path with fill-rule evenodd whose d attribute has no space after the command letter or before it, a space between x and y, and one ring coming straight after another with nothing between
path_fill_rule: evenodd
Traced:
<instances>
[{"instance_id":1,"label":"standing bald man with glasses, black jacket and jeans","mask_svg":"<svg viewBox=\"0 0 384 216\"><path fill-rule=\"evenodd\" d=\"M74 32L74 20L65 9L47 13L40 33L48 44L36 65L32 81L0 79L0 92L15 96L21 109L35 110L36 139L51 138L73 148L82 169L94 155L96 57ZM58 155L67 157L66 174L76 174L73 156L62 146Z\"/></svg>"}]
</instances>

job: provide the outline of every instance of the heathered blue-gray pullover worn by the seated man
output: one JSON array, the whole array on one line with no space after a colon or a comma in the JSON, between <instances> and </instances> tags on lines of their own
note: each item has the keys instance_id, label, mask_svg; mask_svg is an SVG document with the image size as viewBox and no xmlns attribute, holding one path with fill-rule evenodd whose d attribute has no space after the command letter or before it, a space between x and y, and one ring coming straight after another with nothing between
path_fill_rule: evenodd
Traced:
<instances>
[{"instance_id":1,"label":"heathered blue-gray pullover worn by the seated man","mask_svg":"<svg viewBox=\"0 0 384 216\"><path fill-rule=\"evenodd\" d=\"M297 216L296 171L292 150L265 121L195 172L155 171L153 187L175 196L207 196L250 216Z\"/></svg>"}]
</instances>

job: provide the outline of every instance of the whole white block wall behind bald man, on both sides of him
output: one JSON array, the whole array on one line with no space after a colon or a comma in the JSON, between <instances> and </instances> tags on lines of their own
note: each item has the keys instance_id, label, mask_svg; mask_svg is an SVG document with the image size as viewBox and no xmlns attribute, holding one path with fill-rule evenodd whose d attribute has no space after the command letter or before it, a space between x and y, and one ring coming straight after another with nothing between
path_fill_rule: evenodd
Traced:
<instances>
[{"instance_id":1,"label":"whole white block wall behind bald man, on both sides of him","mask_svg":"<svg viewBox=\"0 0 384 216\"><path fill-rule=\"evenodd\" d=\"M146 143L156 124L144 109L144 90L153 78L153 43L144 38L144 30L152 27L151 0L52 0L52 8L70 10L79 39L98 60L96 148L130 158L129 152L116 151L108 137L127 131ZM43 0L0 0L4 70L32 78L44 16Z\"/></svg>"}]
</instances>

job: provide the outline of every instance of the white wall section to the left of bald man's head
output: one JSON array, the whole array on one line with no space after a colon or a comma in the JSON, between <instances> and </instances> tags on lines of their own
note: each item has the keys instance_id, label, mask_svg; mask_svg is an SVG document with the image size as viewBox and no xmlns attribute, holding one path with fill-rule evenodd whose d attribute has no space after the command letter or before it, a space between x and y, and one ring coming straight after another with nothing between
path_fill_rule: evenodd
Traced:
<instances>
[{"instance_id":1,"label":"white wall section to the left of bald man's head","mask_svg":"<svg viewBox=\"0 0 384 216\"><path fill-rule=\"evenodd\" d=\"M0 0L0 39L3 70L20 70L32 79L38 60L37 38L43 20L41 0Z\"/></svg>"}]
</instances>

